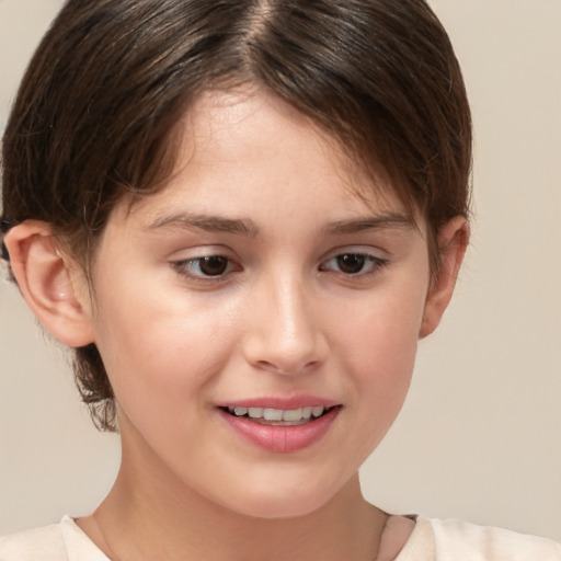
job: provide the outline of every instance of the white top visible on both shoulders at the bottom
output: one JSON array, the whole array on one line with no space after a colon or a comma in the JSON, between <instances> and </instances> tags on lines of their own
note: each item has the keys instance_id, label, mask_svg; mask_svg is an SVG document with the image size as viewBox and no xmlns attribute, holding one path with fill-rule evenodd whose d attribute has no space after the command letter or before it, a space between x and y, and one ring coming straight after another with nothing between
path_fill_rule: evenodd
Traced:
<instances>
[{"instance_id":1,"label":"white top visible on both shoulders at the bottom","mask_svg":"<svg viewBox=\"0 0 561 561\"><path fill-rule=\"evenodd\" d=\"M110 561L69 516L60 524L0 538L0 561ZM419 516L396 561L561 561L546 538Z\"/></svg>"}]
</instances>

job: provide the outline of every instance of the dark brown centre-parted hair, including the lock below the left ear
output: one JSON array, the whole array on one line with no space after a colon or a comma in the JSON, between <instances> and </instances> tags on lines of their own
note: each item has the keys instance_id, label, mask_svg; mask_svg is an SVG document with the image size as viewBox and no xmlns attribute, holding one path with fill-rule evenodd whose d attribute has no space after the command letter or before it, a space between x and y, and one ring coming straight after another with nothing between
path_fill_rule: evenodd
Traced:
<instances>
[{"instance_id":1,"label":"dark brown centre-parted hair, including the lock below the left ear","mask_svg":"<svg viewBox=\"0 0 561 561\"><path fill-rule=\"evenodd\" d=\"M115 202L175 162L174 125L205 89L267 87L327 129L435 237L467 216L471 122L446 32L424 0L68 0L22 81L3 138L2 230L49 222L84 266ZM75 373L116 430L95 345Z\"/></svg>"}]
</instances>

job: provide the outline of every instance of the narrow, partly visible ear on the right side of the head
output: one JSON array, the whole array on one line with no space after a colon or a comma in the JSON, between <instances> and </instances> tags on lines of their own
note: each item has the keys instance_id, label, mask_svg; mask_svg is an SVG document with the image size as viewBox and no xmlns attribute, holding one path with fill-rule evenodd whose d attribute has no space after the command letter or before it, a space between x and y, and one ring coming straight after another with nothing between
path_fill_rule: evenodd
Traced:
<instances>
[{"instance_id":1,"label":"narrow, partly visible ear on the right side of the head","mask_svg":"<svg viewBox=\"0 0 561 561\"><path fill-rule=\"evenodd\" d=\"M462 216L453 218L438 231L440 268L428 288L420 337L430 335L438 327L454 293L468 241L469 225Z\"/></svg>"}]
</instances>

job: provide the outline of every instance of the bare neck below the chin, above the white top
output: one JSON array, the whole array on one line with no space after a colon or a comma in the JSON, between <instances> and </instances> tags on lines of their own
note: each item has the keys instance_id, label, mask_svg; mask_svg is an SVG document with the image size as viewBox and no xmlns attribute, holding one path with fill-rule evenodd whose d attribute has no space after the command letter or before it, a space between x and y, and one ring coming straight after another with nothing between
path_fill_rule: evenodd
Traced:
<instances>
[{"instance_id":1,"label":"bare neck below the chin, above the white top","mask_svg":"<svg viewBox=\"0 0 561 561\"><path fill-rule=\"evenodd\" d=\"M319 510L247 516L178 485L135 481L122 468L94 517L79 525L113 561L376 559L387 515L362 496L358 476Z\"/></svg>"}]
</instances>

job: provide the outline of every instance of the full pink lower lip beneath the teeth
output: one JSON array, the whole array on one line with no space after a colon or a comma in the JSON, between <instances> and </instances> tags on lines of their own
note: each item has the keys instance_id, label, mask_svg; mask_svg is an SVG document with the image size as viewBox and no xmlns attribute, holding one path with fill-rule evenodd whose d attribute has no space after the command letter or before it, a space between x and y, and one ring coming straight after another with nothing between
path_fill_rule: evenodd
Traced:
<instances>
[{"instance_id":1,"label":"full pink lower lip beneath the teeth","mask_svg":"<svg viewBox=\"0 0 561 561\"><path fill-rule=\"evenodd\" d=\"M324 415L302 425L263 425L219 410L226 422L245 440L268 451L289 453L308 448L330 428L341 408L335 407Z\"/></svg>"}]
</instances>

